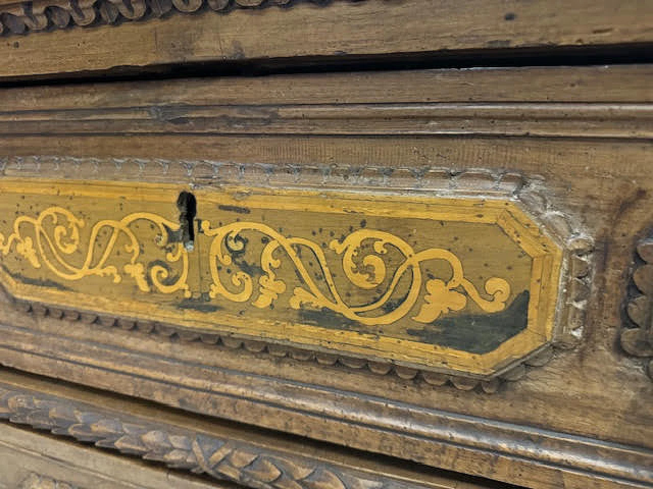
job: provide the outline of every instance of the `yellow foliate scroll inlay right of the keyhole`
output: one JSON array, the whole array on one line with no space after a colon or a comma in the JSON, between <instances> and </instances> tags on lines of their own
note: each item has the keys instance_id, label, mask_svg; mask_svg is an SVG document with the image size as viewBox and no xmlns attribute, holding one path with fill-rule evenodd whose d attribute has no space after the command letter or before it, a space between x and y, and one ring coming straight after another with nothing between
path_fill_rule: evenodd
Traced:
<instances>
[{"instance_id":1,"label":"yellow foliate scroll inlay right of the keyhole","mask_svg":"<svg viewBox=\"0 0 653 489\"><path fill-rule=\"evenodd\" d=\"M342 299L336 281L329 269L327 256L319 244L304 238L287 238L269 226L255 222L236 222L220 228L212 228L210 222L202 223L204 234L214 237L211 244L209 265L214 280L211 285L210 295L213 298L223 298L234 302L249 301L253 295L253 277L246 272L238 271L231 275L231 284L236 286L238 291L233 292L223 284L218 265L224 267L232 265L231 253L240 251L244 247L244 240L240 232L244 230L257 231L269 238L261 254L261 267L264 274L259 278L259 296L253 305L257 308L267 308L287 289L284 280L279 280L275 270L281 265L281 259L287 258L293 263L295 271L306 284L304 287L293 289L293 295L289 304L293 309L299 310L304 304L316 308L327 308L345 318L353 319L364 325L388 325L404 318L419 301L422 294L422 263L429 260L445 261L451 267L453 275L449 280L432 278L426 281L423 304L419 314L412 319L420 323L431 323L449 311L460 311L467 305L470 297L481 310L485 312L498 312L505 308L505 301L510 295L510 285L503 278L492 277L485 282L485 291L492 297L490 300L483 299L477 289L469 280L464 277L460 259L448 250L442 248L430 248L421 252L415 252L413 248L403 239L385 231L360 230L354 231L342 241L333 239L328 248L342 256L342 267L347 279L361 289L374 289L383 284L387 278L387 267L381 256L388 253L388 246L393 246L400 251L404 257L403 263L394 271L387 290L375 301L364 306L353 306ZM360 253L361 245L369 240L375 254L367 254L362 258L362 267L368 269L361 272L354 258ZM324 282L327 284L327 293L323 292L306 269L304 262L298 256L298 250L306 248L315 256L317 263L324 275ZM383 314L383 308L388 304L398 282L409 274L411 285L401 304L391 312ZM461 293L462 290L466 295ZM372 316L367 313L378 313Z\"/></svg>"}]
</instances>

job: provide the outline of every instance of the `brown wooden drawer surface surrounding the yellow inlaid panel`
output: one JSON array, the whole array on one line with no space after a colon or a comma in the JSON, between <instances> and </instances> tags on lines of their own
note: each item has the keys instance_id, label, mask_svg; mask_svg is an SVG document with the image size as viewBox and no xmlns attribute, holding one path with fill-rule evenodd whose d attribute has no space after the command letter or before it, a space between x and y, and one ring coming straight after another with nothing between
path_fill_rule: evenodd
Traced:
<instances>
[{"instance_id":1,"label":"brown wooden drawer surface surrounding the yellow inlaid panel","mask_svg":"<svg viewBox=\"0 0 653 489\"><path fill-rule=\"evenodd\" d=\"M389 181L383 170L392 168L388 178L395 188L414 191L442 168L449 169L448 179L452 169L473 175L463 170L484 168L536 181L547 205L596 241L592 290L579 297L587 317L574 330L577 342L556 349L546 365L522 370L520 380L494 396L473 385L463 392L427 384L414 373L378 376L366 364L306 362L302 358L311 355L302 352L284 351L275 359L257 353L256 344L238 342L244 348L234 349L204 343L211 338L172 333L164 339L50 312L25 314L9 301L1 306L3 363L432 466L502 481L519 477L527 486L650 486L645 469L653 449L653 383L643 361L619 342L628 271L653 218L653 148L644 137L653 101L650 75L646 67L451 70L3 91L7 125L0 148L7 177L201 185L221 178L210 165L193 164L210 160L232 164L241 185L283 186L284 174L285 182L307 174L323 182L326 173L338 188L374 191ZM495 104L485 127L470 117L471 102ZM542 117L544 102L560 104L555 124ZM359 104L396 103L446 103L439 106L443 115L471 122L425 133L412 123L402 128L402 117L355 122ZM336 106L342 126L322 125L310 137L292 121L270 133L261 126L247 132L255 123L247 108L262 104L273 113L285 105ZM520 116L531 130L508 132L501 104L535 108ZM175 117L189 106L206 106L206 113ZM225 106L240 110L246 124L212 121L212 113L227 113ZM117 108L142 110L151 128L135 130L135 117L112 115ZM624 130L610 122L605 115L611 110L632 125ZM110 123L103 130L97 119L106 115ZM490 121L503 132L488 130ZM118 164L111 160L107 167L107 158ZM171 164L179 160L189 164ZM247 170L255 166L262 171ZM266 173L270 166L283 171Z\"/></svg>"}]
</instances>

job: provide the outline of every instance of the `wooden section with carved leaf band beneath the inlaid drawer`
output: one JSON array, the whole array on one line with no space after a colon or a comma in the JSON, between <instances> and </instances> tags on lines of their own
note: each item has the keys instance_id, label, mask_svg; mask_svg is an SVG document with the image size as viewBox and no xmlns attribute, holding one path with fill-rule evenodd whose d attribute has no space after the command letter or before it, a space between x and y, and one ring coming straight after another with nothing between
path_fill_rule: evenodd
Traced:
<instances>
[{"instance_id":1,"label":"wooden section with carved leaf band beneath the inlaid drawer","mask_svg":"<svg viewBox=\"0 0 653 489\"><path fill-rule=\"evenodd\" d=\"M399 467L396 465L398 460L343 454L338 447L314 447L300 439L280 439L272 434L252 432L245 426L188 419L125 399L88 393L65 385L53 386L7 370L3 371L3 382L0 383L0 418L92 442L98 447L144 460L161 462L171 469L207 475L218 486L222 485L221 481L231 481L257 489L494 487L490 481L445 471L426 471L426 467L417 464ZM30 469L40 469L52 477L63 476L63 481L71 483L79 481L80 485L90 485L89 481L93 481L93 487L98 483L99 487L122 487L123 477L124 482L138 487L157 486L155 484L180 488L208 486L183 479L183 471L179 470L171 471L168 481L162 481L163 473L157 473L162 471L144 468L138 471L141 467L126 460L94 456L88 450L67 446L61 439L43 437L38 440L34 435L21 436L2 424L0 433L3 434L0 451L3 448L7 451L13 442L23 452L29 447L32 458L40 459L40 463L18 464L20 469L15 474L0 469L0 481L20 477ZM17 456L20 454L12 454L12 458ZM54 458L59 464L48 463L48 458ZM93 467L99 467L95 474ZM105 481L88 477L97 475L97 479L101 479L101 471L104 471L102 479ZM24 484L41 483L43 479L56 481L39 475L30 473Z\"/></svg>"}]
</instances>

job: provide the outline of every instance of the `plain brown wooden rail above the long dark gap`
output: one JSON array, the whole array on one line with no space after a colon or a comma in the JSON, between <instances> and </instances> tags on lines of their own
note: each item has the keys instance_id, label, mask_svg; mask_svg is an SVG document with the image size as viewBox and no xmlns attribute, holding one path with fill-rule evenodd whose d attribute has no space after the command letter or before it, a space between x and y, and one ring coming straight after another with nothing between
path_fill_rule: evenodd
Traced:
<instances>
[{"instance_id":1,"label":"plain brown wooden rail above the long dark gap","mask_svg":"<svg viewBox=\"0 0 653 489\"><path fill-rule=\"evenodd\" d=\"M140 1L84 0L76 8L57 2L48 25L74 25L50 33L3 37L0 76L27 76L143 67L185 61L261 59L317 55L419 53L483 48L547 48L650 42L646 22L653 14L644 0L436 0L309 2L291 7L232 8L226 14L212 0L195 14L151 15ZM247 1L257 5L257 1ZM76 5L77 3L75 3ZM106 8L102 9L101 4ZM24 15L25 3L3 7L6 31L42 27L39 8ZM30 3L28 2L29 6ZM39 4L40 5L40 4ZM154 10L169 5L155 3ZM176 1L184 10L200 1ZM130 8L131 7L131 8ZM0 12L3 11L0 8ZM8 15L12 15L9 18ZM151 16L118 26L95 23ZM125 15L127 14L127 15ZM72 17L72 20L70 19ZM96 21L97 19L97 21ZM379 22L383 20L383 22ZM80 27L91 24L92 27Z\"/></svg>"}]
</instances>

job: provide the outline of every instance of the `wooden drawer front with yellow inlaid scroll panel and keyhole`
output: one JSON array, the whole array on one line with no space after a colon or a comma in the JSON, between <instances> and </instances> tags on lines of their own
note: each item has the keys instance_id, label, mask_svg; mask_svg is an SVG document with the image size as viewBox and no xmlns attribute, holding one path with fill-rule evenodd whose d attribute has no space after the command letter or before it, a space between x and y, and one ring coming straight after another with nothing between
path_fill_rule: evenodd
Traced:
<instances>
[{"instance_id":1,"label":"wooden drawer front with yellow inlaid scroll panel and keyhole","mask_svg":"<svg viewBox=\"0 0 653 489\"><path fill-rule=\"evenodd\" d=\"M0 359L499 481L650 486L650 76L2 91Z\"/></svg>"}]
</instances>

